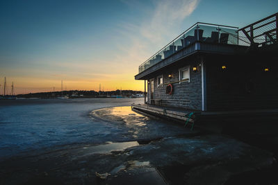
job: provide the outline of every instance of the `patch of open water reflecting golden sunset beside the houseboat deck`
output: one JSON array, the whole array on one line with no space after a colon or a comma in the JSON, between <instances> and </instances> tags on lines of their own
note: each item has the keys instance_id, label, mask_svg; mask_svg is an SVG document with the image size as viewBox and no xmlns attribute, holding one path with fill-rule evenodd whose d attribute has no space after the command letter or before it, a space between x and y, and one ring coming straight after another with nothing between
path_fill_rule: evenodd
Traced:
<instances>
[{"instance_id":1,"label":"patch of open water reflecting golden sunset beside the houseboat deck","mask_svg":"<svg viewBox=\"0 0 278 185\"><path fill-rule=\"evenodd\" d=\"M133 112L130 106L97 109L92 111L90 115L95 120L100 119L101 123L106 125L107 130L110 130L110 127L117 127L117 130L120 130L118 138L122 141L156 139L172 134L192 133L180 125L172 124L172 122L151 119ZM120 140L117 139L117 141Z\"/></svg>"}]
</instances>

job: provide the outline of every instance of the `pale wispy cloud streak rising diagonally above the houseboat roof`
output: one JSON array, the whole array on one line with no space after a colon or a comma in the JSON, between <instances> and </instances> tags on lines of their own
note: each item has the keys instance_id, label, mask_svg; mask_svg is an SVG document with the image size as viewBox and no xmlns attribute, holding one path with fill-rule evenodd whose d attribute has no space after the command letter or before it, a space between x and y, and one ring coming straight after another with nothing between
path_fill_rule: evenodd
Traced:
<instances>
[{"instance_id":1,"label":"pale wispy cloud streak rising diagonally above the houseboat roof","mask_svg":"<svg viewBox=\"0 0 278 185\"><path fill-rule=\"evenodd\" d=\"M122 61L123 65L133 64L132 67L144 62L179 34L183 20L198 3L199 0L153 1L152 7L145 7L149 12L140 24L122 23L120 31L129 38L130 45L118 44L124 55L117 55L116 60Z\"/></svg>"}]
</instances>

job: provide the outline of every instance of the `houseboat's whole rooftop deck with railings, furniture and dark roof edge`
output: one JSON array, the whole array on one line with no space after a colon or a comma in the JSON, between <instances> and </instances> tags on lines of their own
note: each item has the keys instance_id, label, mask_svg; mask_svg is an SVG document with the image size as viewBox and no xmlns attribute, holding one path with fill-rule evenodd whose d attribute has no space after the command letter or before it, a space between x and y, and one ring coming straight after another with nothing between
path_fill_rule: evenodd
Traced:
<instances>
[{"instance_id":1,"label":"houseboat's whole rooftop deck with railings, furniture and dark roof edge","mask_svg":"<svg viewBox=\"0 0 278 185\"><path fill-rule=\"evenodd\" d=\"M135 78L142 80L147 74L198 51L234 53L251 45L275 44L277 43L277 17L278 13L240 29L197 22L140 64L139 73Z\"/></svg>"}]
</instances>

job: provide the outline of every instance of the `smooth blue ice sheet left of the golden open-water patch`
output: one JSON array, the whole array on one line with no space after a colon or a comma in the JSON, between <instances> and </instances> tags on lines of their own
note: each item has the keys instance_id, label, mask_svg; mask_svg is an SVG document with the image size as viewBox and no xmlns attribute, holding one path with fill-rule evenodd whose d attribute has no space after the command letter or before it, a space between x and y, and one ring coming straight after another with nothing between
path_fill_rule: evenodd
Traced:
<instances>
[{"instance_id":1,"label":"smooth blue ice sheet left of the golden open-water patch","mask_svg":"<svg viewBox=\"0 0 278 185\"><path fill-rule=\"evenodd\" d=\"M122 128L93 120L94 109L143 103L143 98L0 101L0 158L72 143L113 141Z\"/></svg>"}]
</instances>

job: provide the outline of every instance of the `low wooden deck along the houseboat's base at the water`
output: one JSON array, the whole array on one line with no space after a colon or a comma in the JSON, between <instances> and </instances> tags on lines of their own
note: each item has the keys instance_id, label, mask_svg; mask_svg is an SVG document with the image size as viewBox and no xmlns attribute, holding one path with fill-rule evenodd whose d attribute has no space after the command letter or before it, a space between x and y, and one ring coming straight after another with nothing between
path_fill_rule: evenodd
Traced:
<instances>
[{"instance_id":1,"label":"low wooden deck along the houseboat's base at the water","mask_svg":"<svg viewBox=\"0 0 278 185\"><path fill-rule=\"evenodd\" d=\"M278 109L247 109L237 111L218 111L218 112L202 112L188 109L179 109L172 107L160 107L155 105L131 105L131 109L142 114L150 114L161 118L168 118L179 121L181 123L189 123L194 127L213 132L222 132L223 129L234 125L235 127L243 127L246 125L261 121L261 125L268 123L277 123ZM190 113L194 114L190 116Z\"/></svg>"}]
</instances>

